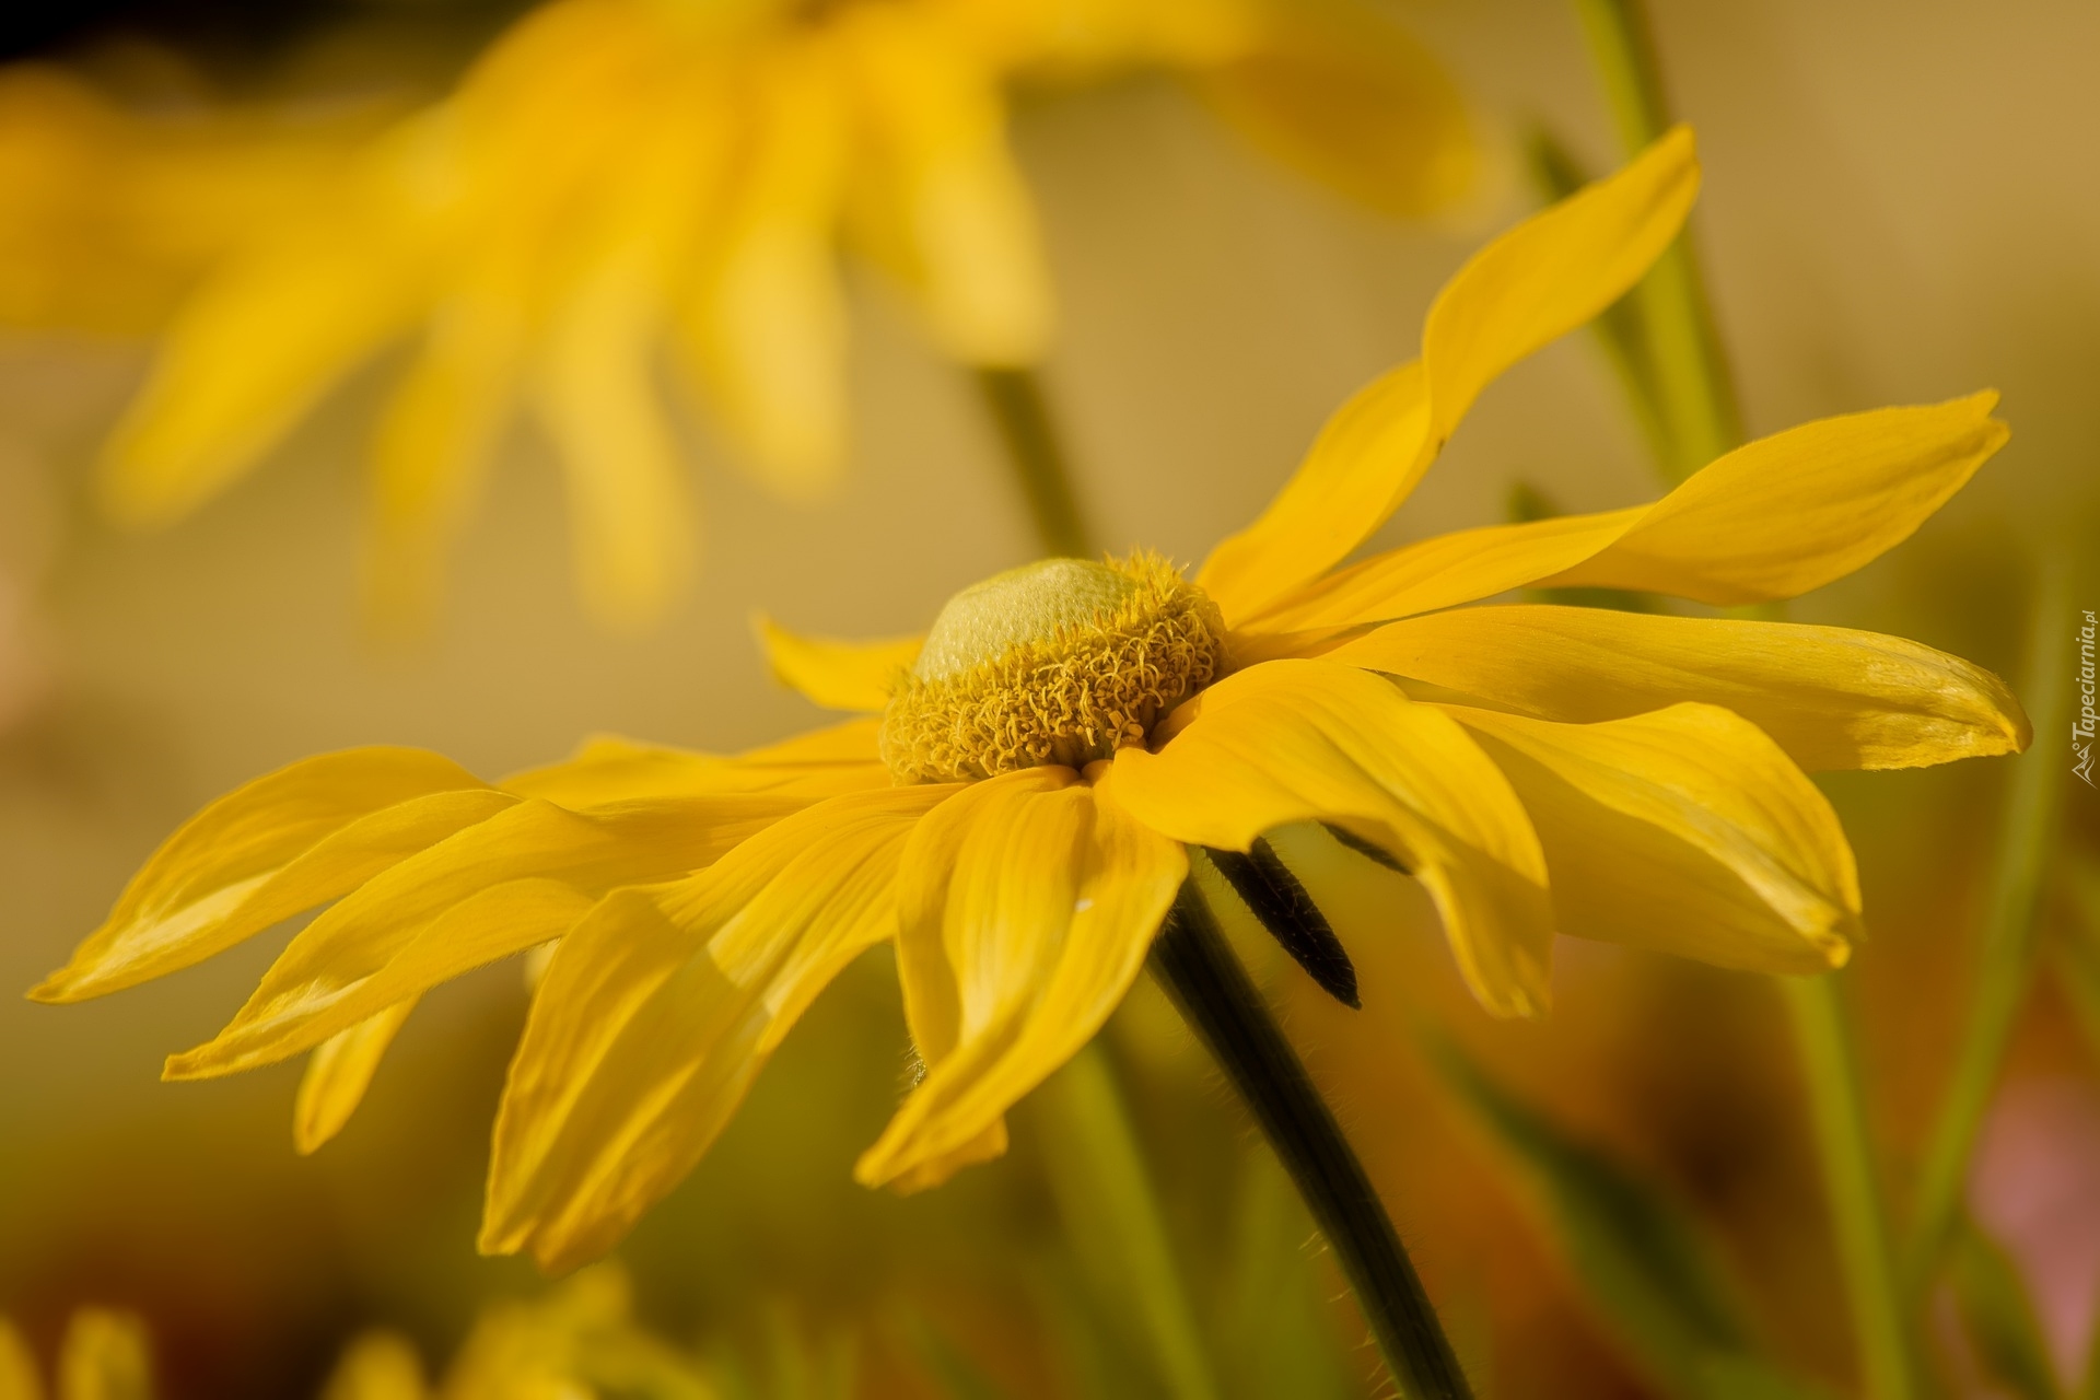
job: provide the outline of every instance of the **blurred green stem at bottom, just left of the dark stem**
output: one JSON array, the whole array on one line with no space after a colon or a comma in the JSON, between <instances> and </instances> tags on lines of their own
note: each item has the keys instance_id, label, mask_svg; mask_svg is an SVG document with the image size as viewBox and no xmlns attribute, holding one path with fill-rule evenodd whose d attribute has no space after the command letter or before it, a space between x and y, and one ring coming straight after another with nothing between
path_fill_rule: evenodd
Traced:
<instances>
[{"instance_id":1,"label":"blurred green stem at bottom, just left of the dark stem","mask_svg":"<svg viewBox=\"0 0 2100 1400\"><path fill-rule=\"evenodd\" d=\"M1100 1041L1086 1045L1035 1091L1035 1100L1056 1117L1054 1129L1044 1133L1044 1165L1094 1289L1142 1331L1166 1394L1218 1400L1218 1379L1174 1268L1174 1247L1109 1052Z\"/></svg>"}]
</instances>

